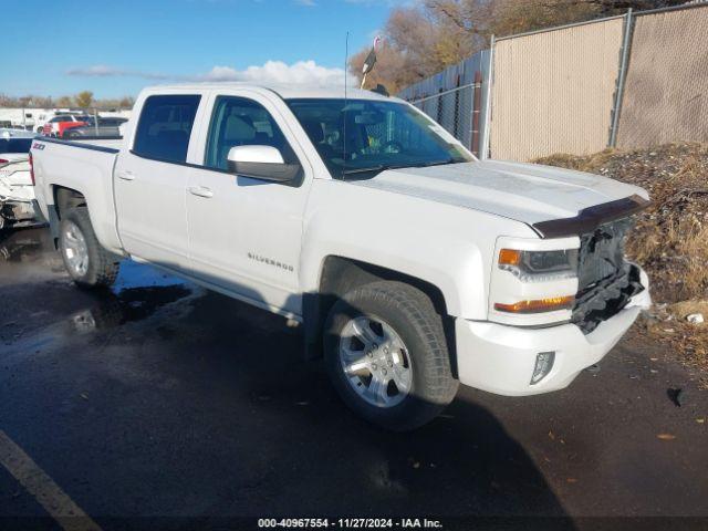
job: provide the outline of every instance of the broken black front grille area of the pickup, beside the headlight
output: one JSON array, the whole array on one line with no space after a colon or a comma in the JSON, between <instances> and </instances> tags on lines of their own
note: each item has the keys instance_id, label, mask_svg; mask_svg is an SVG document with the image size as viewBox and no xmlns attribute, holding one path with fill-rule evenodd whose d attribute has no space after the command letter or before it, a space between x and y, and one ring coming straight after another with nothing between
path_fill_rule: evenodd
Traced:
<instances>
[{"instance_id":1,"label":"broken black front grille area of the pickup, beside the headlight","mask_svg":"<svg viewBox=\"0 0 708 531\"><path fill-rule=\"evenodd\" d=\"M579 289L571 322L584 334L618 313L644 289L639 269L624 258L624 242L633 225L625 218L581 237Z\"/></svg>"}]
</instances>

